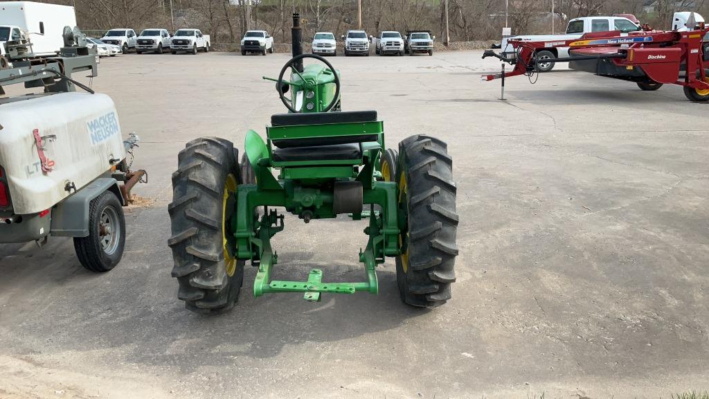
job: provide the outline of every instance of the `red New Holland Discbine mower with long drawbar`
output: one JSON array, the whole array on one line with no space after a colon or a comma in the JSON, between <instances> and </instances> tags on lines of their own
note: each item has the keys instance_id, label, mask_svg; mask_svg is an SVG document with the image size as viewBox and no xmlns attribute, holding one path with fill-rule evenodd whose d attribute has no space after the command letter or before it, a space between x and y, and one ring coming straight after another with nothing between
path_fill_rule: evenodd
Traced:
<instances>
[{"instance_id":1,"label":"red New Holland Discbine mower with long drawbar","mask_svg":"<svg viewBox=\"0 0 709 399\"><path fill-rule=\"evenodd\" d=\"M709 28L703 22L686 31L640 31L621 35L620 31L586 33L575 40L509 40L515 49L510 60L493 50L483 58L495 57L513 65L510 72L483 75L482 80L527 75L532 77L542 62L569 62L574 70L636 82L643 90L662 84L679 84L694 102L709 101L708 57L703 38ZM540 60L537 53L549 48L568 47L569 57Z\"/></svg>"}]
</instances>

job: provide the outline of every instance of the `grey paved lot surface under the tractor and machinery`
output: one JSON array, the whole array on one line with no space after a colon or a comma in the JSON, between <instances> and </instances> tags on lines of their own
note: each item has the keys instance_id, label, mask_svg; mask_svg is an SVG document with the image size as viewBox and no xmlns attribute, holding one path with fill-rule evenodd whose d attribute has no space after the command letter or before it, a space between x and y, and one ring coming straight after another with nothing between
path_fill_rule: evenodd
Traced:
<instances>
[{"instance_id":1,"label":"grey paved lot surface under the tractor and machinery","mask_svg":"<svg viewBox=\"0 0 709 399\"><path fill-rule=\"evenodd\" d=\"M345 110L376 109L389 146L448 143L460 214L453 299L251 295L204 317L170 277L170 174L184 143L242 147L284 111L287 55L121 55L93 87L142 143L150 183L127 248L94 274L69 239L0 248L0 398L669 398L709 388L709 104L681 87L559 70L507 82L480 52L330 58ZM289 217L281 279L360 280L364 223Z\"/></svg>"}]
</instances>

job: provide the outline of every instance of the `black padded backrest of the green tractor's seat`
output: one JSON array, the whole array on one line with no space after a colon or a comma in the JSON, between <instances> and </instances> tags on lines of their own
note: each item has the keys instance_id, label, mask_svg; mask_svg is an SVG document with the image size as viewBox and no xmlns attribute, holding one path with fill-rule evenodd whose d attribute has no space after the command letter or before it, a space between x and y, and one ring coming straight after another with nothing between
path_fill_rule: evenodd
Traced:
<instances>
[{"instance_id":1,"label":"black padded backrest of the green tractor's seat","mask_svg":"<svg viewBox=\"0 0 709 399\"><path fill-rule=\"evenodd\" d=\"M336 125L376 122L376 111L313 112L311 114L275 114L271 116L272 127ZM328 128L325 127L325 130ZM320 129L322 131L322 129ZM301 148L314 146L335 146L341 144L378 141L379 135L352 134L348 136L316 136L300 138L274 138L271 141L278 148ZM352 147L353 148L353 147Z\"/></svg>"}]
</instances>

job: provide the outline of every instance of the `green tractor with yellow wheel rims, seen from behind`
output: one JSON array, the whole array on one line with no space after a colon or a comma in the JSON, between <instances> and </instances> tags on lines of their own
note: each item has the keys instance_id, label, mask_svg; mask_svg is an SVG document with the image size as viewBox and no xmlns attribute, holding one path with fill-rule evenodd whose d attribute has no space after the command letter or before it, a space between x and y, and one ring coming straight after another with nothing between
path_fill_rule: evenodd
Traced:
<instances>
[{"instance_id":1,"label":"green tractor with yellow wheel rims, seen from behind","mask_svg":"<svg viewBox=\"0 0 709 399\"><path fill-rule=\"evenodd\" d=\"M258 268L255 297L303 293L303 299L319 301L321 293L376 294L376 266L389 256L396 258L404 302L442 305L451 297L458 254L456 185L446 143L417 135L401 141L398 151L385 151L376 111L340 111L340 73L325 58L302 54L298 22L294 14L294 58L278 79L264 77L277 82L289 109L271 117L266 140L248 131L240 162L223 138L197 138L178 155L168 244L179 299L196 312L229 310L246 261ZM303 67L305 58L325 65ZM277 208L306 223L338 214L368 219L369 241L359 252L364 281L327 282L319 269L306 281L272 280L279 257L270 240L284 229Z\"/></svg>"}]
</instances>

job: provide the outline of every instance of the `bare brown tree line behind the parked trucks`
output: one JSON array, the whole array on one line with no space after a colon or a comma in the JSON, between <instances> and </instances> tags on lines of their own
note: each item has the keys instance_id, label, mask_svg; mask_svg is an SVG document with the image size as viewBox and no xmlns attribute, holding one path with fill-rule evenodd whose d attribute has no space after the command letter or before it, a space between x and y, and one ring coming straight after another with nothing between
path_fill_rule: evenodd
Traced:
<instances>
[{"instance_id":1,"label":"bare brown tree line behind the parked trucks","mask_svg":"<svg viewBox=\"0 0 709 399\"><path fill-rule=\"evenodd\" d=\"M45 0L74 6L79 28L200 28L215 43L235 43L249 29L268 31L289 43L291 14L301 14L304 37L317 31L340 35L359 27L358 0ZM632 13L654 28L669 28L674 11L709 16L705 0L359 0L362 28L426 29L450 40L498 39L503 26L513 34L563 31L570 18ZM506 6L507 4L507 6Z\"/></svg>"}]
</instances>

